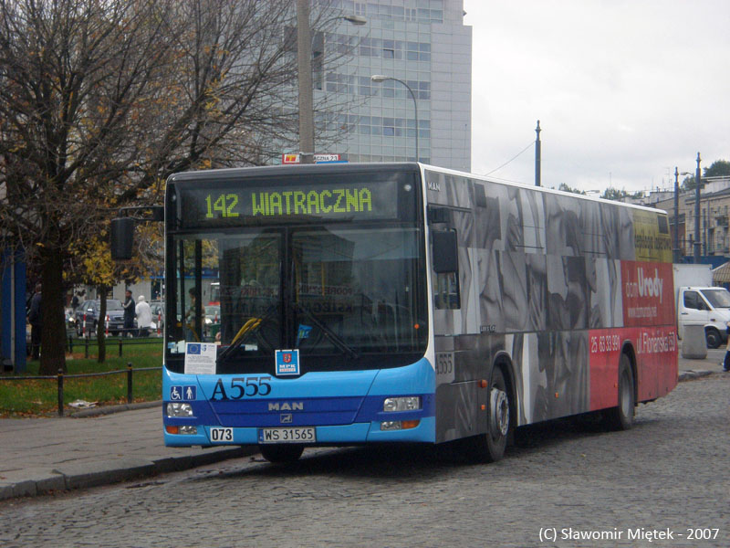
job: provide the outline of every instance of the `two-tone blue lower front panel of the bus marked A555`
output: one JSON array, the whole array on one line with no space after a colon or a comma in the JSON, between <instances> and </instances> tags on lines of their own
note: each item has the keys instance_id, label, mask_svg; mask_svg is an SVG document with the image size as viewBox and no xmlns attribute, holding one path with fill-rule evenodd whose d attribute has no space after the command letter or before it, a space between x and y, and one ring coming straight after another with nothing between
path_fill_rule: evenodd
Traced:
<instances>
[{"instance_id":1,"label":"two-tone blue lower front panel of the bus marked A555","mask_svg":"<svg viewBox=\"0 0 730 548\"><path fill-rule=\"evenodd\" d=\"M258 429L317 427L318 443L435 441L435 374L425 359L404 367L313 372L297 379L271 375L174 374L162 377L163 423L196 427L195 435L165 433L165 444L212 445L211 427L233 428L232 445L258 443ZM421 408L384 412L389 396L419 396ZM167 416L168 403L190 406L193 416ZM381 430L382 422L418 421L405 430ZM218 442L216 442L217 444Z\"/></svg>"}]
</instances>

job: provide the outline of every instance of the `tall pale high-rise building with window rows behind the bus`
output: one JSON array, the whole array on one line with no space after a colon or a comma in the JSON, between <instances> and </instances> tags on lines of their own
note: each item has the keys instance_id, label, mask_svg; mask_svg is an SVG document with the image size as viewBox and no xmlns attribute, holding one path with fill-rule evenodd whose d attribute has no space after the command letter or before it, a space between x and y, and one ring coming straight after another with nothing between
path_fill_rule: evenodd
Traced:
<instances>
[{"instance_id":1,"label":"tall pale high-rise building with window rows behind the bus","mask_svg":"<svg viewBox=\"0 0 730 548\"><path fill-rule=\"evenodd\" d=\"M412 161L418 132L420 161L469 171L472 28L464 26L463 0L334 0L328 11L366 17L367 24L339 20L323 35L315 29L315 103L330 105L315 125L335 135L330 150L316 136L316 152L349 162ZM417 128L408 88L373 75L408 85L418 103Z\"/></svg>"}]
</instances>

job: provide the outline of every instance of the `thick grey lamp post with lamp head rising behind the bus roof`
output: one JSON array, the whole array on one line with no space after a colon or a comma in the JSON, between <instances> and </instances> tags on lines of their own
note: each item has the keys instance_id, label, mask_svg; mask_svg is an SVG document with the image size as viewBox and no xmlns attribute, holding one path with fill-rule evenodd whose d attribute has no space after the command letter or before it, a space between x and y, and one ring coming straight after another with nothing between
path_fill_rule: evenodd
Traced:
<instances>
[{"instance_id":1,"label":"thick grey lamp post with lamp head rising behind the bus roof","mask_svg":"<svg viewBox=\"0 0 730 548\"><path fill-rule=\"evenodd\" d=\"M299 163L314 163L314 97L312 91L312 32L309 27L310 0L297 0L297 84L299 93ZM365 25L360 16L337 16L352 25Z\"/></svg>"}]
</instances>

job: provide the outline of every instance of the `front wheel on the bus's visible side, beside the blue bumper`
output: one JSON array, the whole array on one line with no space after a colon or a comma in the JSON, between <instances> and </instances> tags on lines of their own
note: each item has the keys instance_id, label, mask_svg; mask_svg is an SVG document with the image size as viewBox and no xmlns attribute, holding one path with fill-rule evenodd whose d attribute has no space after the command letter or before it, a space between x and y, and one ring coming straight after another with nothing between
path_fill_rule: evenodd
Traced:
<instances>
[{"instance_id":1,"label":"front wheel on the bus's visible side, beside the blue bumper","mask_svg":"<svg viewBox=\"0 0 730 548\"><path fill-rule=\"evenodd\" d=\"M511 427L510 395L505 374L499 367L492 372L487 395L486 432L469 438L471 452L480 462L495 462L505 456L507 436Z\"/></svg>"}]
</instances>

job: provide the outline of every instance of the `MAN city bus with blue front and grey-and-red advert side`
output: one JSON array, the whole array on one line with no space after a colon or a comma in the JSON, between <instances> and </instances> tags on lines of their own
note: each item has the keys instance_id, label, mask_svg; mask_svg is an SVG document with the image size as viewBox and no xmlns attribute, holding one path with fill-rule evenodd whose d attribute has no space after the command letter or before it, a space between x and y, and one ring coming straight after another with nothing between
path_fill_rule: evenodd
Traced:
<instances>
[{"instance_id":1,"label":"MAN city bus with blue front and grey-and-red advert side","mask_svg":"<svg viewBox=\"0 0 730 548\"><path fill-rule=\"evenodd\" d=\"M463 439L490 461L515 427L557 416L631 427L676 383L666 227L663 212L419 163L173 174L165 444L290 461ZM622 294L636 276L652 295Z\"/></svg>"}]
</instances>

